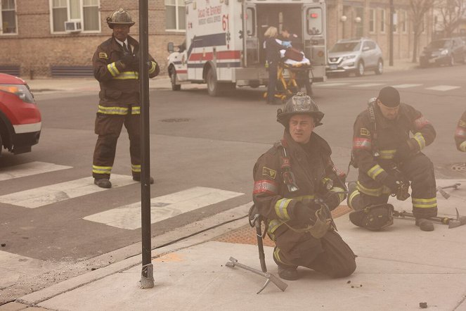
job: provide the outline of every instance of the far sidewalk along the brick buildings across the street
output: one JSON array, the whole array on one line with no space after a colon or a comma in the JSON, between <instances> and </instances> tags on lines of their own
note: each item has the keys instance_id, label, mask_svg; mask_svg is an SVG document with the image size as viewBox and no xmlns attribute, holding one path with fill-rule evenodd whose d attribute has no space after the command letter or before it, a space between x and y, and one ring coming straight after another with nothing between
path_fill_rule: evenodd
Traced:
<instances>
[{"instance_id":1,"label":"far sidewalk along the brick buildings across the street","mask_svg":"<svg viewBox=\"0 0 466 311\"><path fill-rule=\"evenodd\" d=\"M394 60L394 65L389 66L385 61L384 72L395 72L403 70L413 70L418 68L417 63L411 63L410 59ZM27 80L27 84L34 94L50 94L56 92L81 92L99 91L98 81L93 77L85 78L49 78ZM155 77L149 80L150 89L171 89L171 82L168 76ZM182 89L206 89L206 84L183 84Z\"/></svg>"}]
</instances>

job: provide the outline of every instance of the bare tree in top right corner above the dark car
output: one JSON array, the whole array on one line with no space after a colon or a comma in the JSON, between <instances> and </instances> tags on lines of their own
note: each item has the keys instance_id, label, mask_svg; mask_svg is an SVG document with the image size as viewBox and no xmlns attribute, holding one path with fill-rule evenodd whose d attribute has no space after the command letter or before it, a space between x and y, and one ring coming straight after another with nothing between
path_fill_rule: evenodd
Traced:
<instances>
[{"instance_id":1,"label":"bare tree in top right corner above the dark car","mask_svg":"<svg viewBox=\"0 0 466 311\"><path fill-rule=\"evenodd\" d=\"M441 29L444 37L451 37L462 22L466 12L464 0L437 0L436 9L441 15Z\"/></svg>"}]
</instances>

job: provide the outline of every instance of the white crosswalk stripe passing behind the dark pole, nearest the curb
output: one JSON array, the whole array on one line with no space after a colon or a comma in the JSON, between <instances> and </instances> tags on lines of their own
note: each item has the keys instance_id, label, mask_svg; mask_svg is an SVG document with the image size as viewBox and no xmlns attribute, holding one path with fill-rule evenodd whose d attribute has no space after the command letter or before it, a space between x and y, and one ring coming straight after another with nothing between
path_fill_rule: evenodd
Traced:
<instances>
[{"instance_id":1,"label":"white crosswalk stripe passing behind the dark pole, nearest the curb","mask_svg":"<svg viewBox=\"0 0 466 311\"><path fill-rule=\"evenodd\" d=\"M244 193L221 189L194 187L150 199L150 222L160 222L169 217L197 210L207 205L242 196ZM141 202L124 205L112 210L84 217L84 220L100 222L122 229L138 229L141 227Z\"/></svg>"}]
</instances>

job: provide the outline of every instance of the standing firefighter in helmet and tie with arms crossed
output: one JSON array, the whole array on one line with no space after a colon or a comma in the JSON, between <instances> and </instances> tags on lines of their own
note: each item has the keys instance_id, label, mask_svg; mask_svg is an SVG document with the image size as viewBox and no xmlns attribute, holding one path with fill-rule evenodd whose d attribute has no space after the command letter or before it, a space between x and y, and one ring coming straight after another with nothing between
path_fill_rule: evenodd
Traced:
<instances>
[{"instance_id":1,"label":"standing firefighter in helmet and tie with arms crossed","mask_svg":"<svg viewBox=\"0 0 466 311\"><path fill-rule=\"evenodd\" d=\"M98 139L93 153L92 176L94 184L101 188L112 186L110 173L122 125L129 134L133 179L141 182L139 44L128 35L129 27L134 22L124 9L114 11L107 18L107 23L113 30L112 37L97 47L92 58L94 77L101 87L95 125ZM149 77L155 77L160 68L151 56L149 59ZM150 183L153 182L150 177Z\"/></svg>"}]
</instances>

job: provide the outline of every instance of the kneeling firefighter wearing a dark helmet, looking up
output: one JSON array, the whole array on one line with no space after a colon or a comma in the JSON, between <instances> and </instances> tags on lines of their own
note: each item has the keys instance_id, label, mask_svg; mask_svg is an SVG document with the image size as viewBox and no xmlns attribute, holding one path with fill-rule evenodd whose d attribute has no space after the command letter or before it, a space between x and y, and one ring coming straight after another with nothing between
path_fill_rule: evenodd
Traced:
<instances>
[{"instance_id":1,"label":"kneeling firefighter wearing a dark helmet, looking up","mask_svg":"<svg viewBox=\"0 0 466 311\"><path fill-rule=\"evenodd\" d=\"M346 196L327 141L313 132L323 113L311 97L298 93L277 111L283 139L254 165L254 208L276 243L273 260L282 279L299 278L297 267L330 277L356 269L351 248L335 231L331 210Z\"/></svg>"}]
</instances>

